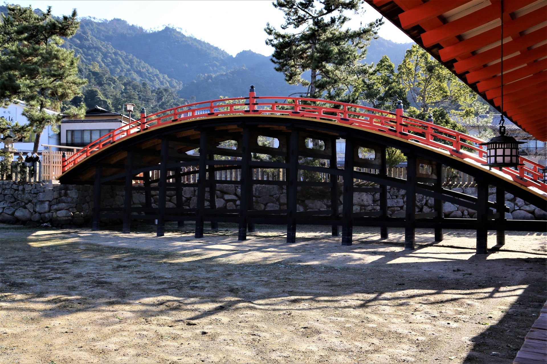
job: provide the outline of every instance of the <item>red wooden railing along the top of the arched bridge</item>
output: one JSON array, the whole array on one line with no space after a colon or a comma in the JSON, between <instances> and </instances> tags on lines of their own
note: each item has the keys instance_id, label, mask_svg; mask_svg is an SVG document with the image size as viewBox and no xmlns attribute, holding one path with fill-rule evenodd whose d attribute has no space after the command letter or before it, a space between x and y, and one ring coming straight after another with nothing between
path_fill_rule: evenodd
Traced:
<instances>
[{"instance_id":1,"label":"red wooden railing along the top of the arched bridge","mask_svg":"<svg viewBox=\"0 0 547 364\"><path fill-rule=\"evenodd\" d=\"M394 138L414 141L477 164L486 163L484 158L486 150L479 146L484 140L431 122L404 116L403 109L389 112L322 99L284 96L259 97L255 96L254 92L249 92L249 97L245 98L208 100L176 106L148 116L141 114L139 120L125 124L101 136L100 139L91 142L82 150L66 158L62 164L62 172L72 168L91 154L134 133L145 132L185 120L223 115L285 115L328 120L386 133ZM516 169L503 168L499 173L509 176L513 181L523 186L547 193L547 184L539 181L543 178L541 169L544 166L522 156L520 163L524 165L518 166ZM498 171L496 170L496 172Z\"/></svg>"}]
</instances>

